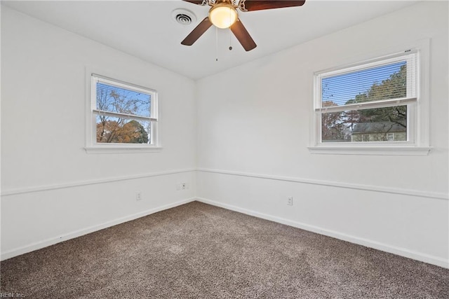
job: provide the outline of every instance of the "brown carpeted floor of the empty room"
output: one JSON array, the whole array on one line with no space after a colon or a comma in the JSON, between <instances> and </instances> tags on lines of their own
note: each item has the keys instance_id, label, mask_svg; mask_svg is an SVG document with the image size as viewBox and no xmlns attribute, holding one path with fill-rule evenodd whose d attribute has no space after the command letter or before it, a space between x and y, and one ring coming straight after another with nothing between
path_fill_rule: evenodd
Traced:
<instances>
[{"instance_id":1,"label":"brown carpeted floor of the empty room","mask_svg":"<svg viewBox=\"0 0 449 299\"><path fill-rule=\"evenodd\" d=\"M200 202L1 262L25 298L449 298L449 270Z\"/></svg>"}]
</instances>

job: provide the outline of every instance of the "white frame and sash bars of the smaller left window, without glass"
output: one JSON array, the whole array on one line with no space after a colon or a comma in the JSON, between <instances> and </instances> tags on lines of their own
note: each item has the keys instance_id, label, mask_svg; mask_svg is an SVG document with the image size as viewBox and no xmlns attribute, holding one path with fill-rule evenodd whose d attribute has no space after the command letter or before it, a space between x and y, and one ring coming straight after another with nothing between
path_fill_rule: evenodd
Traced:
<instances>
[{"instance_id":1,"label":"white frame and sash bars of the smaller left window, without glass","mask_svg":"<svg viewBox=\"0 0 449 299\"><path fill-rule=\"evenodd\" d=\"M114 85L119 88L144 92L151 96L150 103L150 117L140 117L127 115L123 113L112 113L99 111L96 107L96 83L102 82L107 85ZM86 70L86 153L142 153L142 152L157 152L161 151L159 143L159 109L158 109L158 93L152 88L142 87L133 83L128 83L116 79L116 76L103 76L93 72L90 69ZM98 143L96 134L96 116L98 113L109 116L125 116L132 120L148 120L151 123L151 134L149 144L117 144L117 143Z\"/></svg>"}]
</instances>

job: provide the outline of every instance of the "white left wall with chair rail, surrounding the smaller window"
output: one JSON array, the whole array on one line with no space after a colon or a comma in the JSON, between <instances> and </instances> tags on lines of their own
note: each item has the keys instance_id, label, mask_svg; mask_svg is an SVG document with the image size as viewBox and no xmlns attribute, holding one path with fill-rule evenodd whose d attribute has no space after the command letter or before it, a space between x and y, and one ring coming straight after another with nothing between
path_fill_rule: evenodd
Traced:
<instances>
[{"instance_id":1,"label":"white left wall with chair rail, surrounding the smaller window","mask_svg":"<svg viewBox=\"0 0 449 299\"><path fill-rule=\"evenodd\" d=\"M158 90L160 153L84 151L86 67ZM192 200L194 88L188 78L2 6L1 257ZM180 182L191 188L177 191Z\"/></svg>"}]
</instances>

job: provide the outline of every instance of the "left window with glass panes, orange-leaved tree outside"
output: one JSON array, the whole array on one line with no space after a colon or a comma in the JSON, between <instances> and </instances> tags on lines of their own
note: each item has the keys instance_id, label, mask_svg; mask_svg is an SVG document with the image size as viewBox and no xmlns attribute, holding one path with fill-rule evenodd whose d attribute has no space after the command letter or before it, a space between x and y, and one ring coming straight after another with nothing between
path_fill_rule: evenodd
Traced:
<instances>
[{"instance_id":1,"label":"left window with glass panes, orange-leaved tree outside","mask_svg":"<svg viewBox=\"0 0 449 299\"><path fill-rule=\"evenodd\" d=\"M156 91L91 74L90 149L157 146Z\"/></svg>"}]
</instances>

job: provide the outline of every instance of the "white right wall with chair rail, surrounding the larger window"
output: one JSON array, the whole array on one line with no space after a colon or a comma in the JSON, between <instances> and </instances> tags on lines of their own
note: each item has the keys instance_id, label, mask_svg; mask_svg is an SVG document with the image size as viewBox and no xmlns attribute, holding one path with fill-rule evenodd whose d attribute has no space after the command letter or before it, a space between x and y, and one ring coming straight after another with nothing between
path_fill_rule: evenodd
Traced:
<instances>
[{"instance_id":1,"label":"white right wall with chair rail, surrounding the larger window","mask_svg":"<svg viewBox=\"0 0 449 299\"><path fill-rule=\"evenodd\" d=\"M314 71L420 39L431 40L430 155L309 153ZM448 95L448 3L442 1L203 78L198 197L449 267Z\"/></svg>"}]
</instances>

